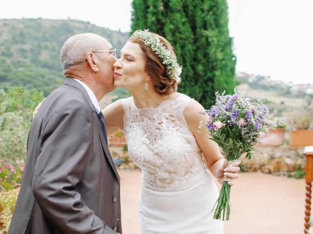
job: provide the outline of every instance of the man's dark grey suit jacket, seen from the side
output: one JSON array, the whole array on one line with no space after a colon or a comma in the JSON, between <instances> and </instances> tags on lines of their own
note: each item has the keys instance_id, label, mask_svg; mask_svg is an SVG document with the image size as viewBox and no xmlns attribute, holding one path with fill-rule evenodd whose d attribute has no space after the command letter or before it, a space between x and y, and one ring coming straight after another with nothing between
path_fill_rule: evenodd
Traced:
<instances>
[{"instance_id":1,"label":"man's dark grey suit jacket, seen from the side","mask_svg":"<svg viewBox=\"0 0 313 234\"><path fill-rule=\"evenodd\" d=\"M92 102L67 78L31 124L9 234L121 233L119 183Z\"/></svg>"}]
</instances>

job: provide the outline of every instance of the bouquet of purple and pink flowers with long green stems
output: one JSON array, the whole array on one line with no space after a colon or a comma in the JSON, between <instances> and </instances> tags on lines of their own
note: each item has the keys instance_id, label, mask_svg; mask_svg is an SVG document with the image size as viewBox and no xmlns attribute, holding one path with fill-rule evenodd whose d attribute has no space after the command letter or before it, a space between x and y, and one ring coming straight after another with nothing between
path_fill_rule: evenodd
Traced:
<instances>
[{"instance_id":1,"label":"bouquet of purple and pink flowers with long green stems","mask_svg":"<svg viewBox=\"0 0 313 234\"><path fill-rule=\"evenodd\" d=\"M251 159L253 146L265 136L270 128L275 127L276 121L269 114L264 99L256 98L255 102L251 102L250 98L236 94L236 90L234 95L224 95L224 93L219 95L216 92L216 103L201 114L207 117L205 126L211 136L210 139L223 149L228 161L227 166L229 166L245 153L246 157ZM204 123L201 123L200 128L203 125ZM216 202L214 219L221 219L222 213L223 220L225 214L226 220L229 219L230 185L228 179L224 177L220 196Z\"/></svg>"}]
</instances>

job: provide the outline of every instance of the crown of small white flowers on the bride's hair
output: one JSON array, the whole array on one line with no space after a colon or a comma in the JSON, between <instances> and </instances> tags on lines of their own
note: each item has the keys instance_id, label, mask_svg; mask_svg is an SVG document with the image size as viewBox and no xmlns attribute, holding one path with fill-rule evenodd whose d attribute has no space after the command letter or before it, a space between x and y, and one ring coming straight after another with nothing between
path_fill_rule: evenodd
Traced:
<instances>
[{"instance_id":1,"label":"crown of small white flowers on the bride's hair","mask_svg":"<svg viewBox=\"0 0 313 234\"><path fill-rule=\"evenodd\" d=\"M147 46L149 46L159 57L162 59L162 64L165 65L168 74L171 78L180 81L179 75L181 74L182 67L179 66L176 56L172 55L170 50L166 48L158 37L149 33L149 29L136 30L131 37L136 36L142 38Z\"/></svg>"}]
</instances>

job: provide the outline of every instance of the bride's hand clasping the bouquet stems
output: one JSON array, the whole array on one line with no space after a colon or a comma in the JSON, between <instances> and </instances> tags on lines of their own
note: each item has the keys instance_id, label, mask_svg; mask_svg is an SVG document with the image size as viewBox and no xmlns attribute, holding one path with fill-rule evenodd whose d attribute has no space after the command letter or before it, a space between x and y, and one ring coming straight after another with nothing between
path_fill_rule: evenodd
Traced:
<instances>
[{"instance_id":1,"label":"bride's hand clasping the bouquet stems","mask_svg":"<svg viewBox=\"0 0 313 234\"><path fill-rule=\"evenodd\" d=\"M229 178L228 184L230 186L234 185L233 179L238 179L239 175L238 172L240 171L239 164L241 163L241 160L236 160L232 162L229 167L227 166L227 160L224 161L223 165L217 170L216 176L220 184L223 184L224 176L227 176Z\"/></svg>"}]
</instances>

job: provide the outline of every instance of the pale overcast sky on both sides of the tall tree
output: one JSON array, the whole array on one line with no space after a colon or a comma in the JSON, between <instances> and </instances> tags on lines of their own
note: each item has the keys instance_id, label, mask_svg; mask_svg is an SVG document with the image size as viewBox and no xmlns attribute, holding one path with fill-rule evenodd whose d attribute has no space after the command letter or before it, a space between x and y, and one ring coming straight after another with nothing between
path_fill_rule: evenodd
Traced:
<instances>
[{"instance_id":1,"label":"pale overcast sky on both sides of the tall tree","mask_svg":"<svg viewBox=\"0 0 313 234\"><path fill-rule=\"evenodd\" d=\"M228 0L236 70L313 84L313 0ZM89 21L130 31L132 0L2 0L0 19Z\"/></svg>"}]
</instances>

